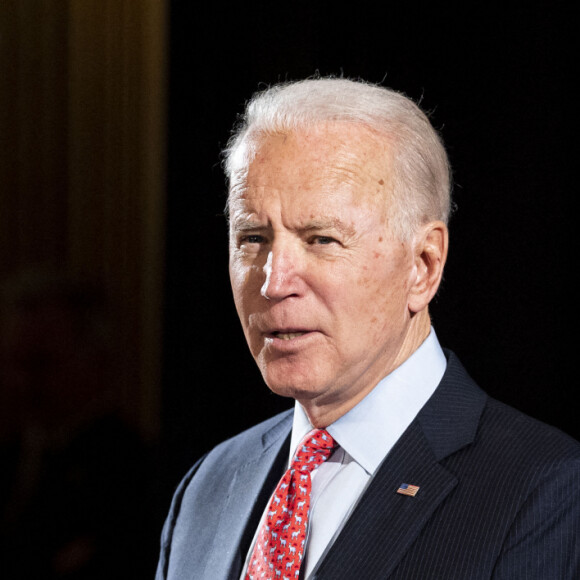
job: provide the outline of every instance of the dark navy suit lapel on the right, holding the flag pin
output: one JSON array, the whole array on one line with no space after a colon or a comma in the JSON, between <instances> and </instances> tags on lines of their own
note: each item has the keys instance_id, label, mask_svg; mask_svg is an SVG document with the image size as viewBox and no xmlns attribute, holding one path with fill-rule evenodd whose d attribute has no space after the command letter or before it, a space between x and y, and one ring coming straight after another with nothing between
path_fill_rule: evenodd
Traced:
<instances>
[{"instance_id":1,"label":"dark navy suit lapel on the right, holding the flag pin","mask_svg":"<svg viewBox=\"0 0 580 580\"><path fill-rule=\"evenodd\" d=\"M379 467L312 579L389 577L457 485L440 461L473 441L485 399L450 355L437 391ZM417 495L398 494L402 483L419 486Z\"/></svg>"}]
</instances>

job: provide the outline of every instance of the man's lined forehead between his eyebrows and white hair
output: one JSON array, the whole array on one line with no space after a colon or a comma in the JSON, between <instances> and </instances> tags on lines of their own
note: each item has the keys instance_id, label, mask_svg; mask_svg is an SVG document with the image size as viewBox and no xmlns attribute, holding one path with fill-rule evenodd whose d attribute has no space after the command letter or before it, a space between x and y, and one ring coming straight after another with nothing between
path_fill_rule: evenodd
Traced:
<instances>
[{"instance_id":1,"label":"man's lined forehead between his eyebrows and white hair","mask_svg":"<svg viewBox=\"0 0 580 580\"><path fill-rule=\"evenodd\" d=\"M283 192L294 202L333 203L346 195L354 204L384 201L389 190L391 160L388 142L369 129L348 122L321 123L287 133L261 135L239 155L249 163L234 170L230 211L268 192ZM336 198L333 200L333 198Z\"/></svg>"}]
</instances>

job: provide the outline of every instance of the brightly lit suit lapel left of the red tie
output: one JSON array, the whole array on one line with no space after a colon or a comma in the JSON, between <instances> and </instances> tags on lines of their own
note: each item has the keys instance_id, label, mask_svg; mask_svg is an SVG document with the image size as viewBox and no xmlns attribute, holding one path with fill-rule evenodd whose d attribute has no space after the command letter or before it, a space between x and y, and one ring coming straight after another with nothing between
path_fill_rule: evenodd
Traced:
<instances>
[{"instance_id":1,"label":"brightly lit suit lapel left of the red tie","mask_svg":"<svg viewBox=\"0 0 580 580\"><path fill-rule=\"evenodd\" d=\"M292 414L263 435L261 448L235 472L215 534L216 546L232 548L212 550L204 578L239 578L264 507L286 468L291 426Z\"/></svg>"}]
</instances>

